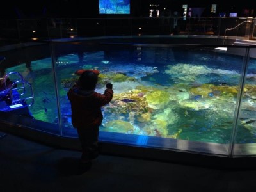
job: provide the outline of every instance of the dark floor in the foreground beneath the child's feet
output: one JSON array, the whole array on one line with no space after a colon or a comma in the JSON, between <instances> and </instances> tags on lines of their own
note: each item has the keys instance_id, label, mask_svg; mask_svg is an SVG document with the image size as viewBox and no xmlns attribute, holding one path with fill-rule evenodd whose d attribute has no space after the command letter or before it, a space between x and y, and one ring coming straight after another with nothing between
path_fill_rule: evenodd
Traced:
<instances>
[{"instance_id":1,"label":"dark floor in the foreground beneath the child's feet","mask_svg":"<svg viewBox=\"0 0 256 192\"><path fill-rule=\"evenodd\" d=\"M256 170L198 166L100 155L76 175L80 152L0 132L0 191L255 191Z\"/></svg>"}]
</instances>

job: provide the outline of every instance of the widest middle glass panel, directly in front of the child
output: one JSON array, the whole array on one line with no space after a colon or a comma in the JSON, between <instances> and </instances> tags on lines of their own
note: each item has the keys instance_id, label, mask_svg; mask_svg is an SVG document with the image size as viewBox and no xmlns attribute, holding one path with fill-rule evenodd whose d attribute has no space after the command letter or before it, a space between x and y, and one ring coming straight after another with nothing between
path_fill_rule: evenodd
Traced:
<instances>
[{"instance_id":1,"label":"widest middle glass panel, directly in front of the child","mask_svg":"<svg viewBox=\"0 0 256 192\"><path fill-rule=\"evenodd\" d=\"M228 154L243 52L214 48L56 45L63 136L76 136L67 99L74 72L96 68L96 91L109 81L115 91L100 140Z\"/></svg>"}]
</instances>

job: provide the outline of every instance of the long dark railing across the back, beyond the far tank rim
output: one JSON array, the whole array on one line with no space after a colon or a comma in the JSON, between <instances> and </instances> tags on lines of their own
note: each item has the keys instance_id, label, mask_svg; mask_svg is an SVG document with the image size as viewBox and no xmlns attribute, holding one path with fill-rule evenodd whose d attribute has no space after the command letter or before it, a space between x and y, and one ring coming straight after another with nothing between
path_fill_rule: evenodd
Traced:
<instances>
[{"instance_id":1,"label":"long dark railing across the back, beyond the far tank rim","mask_svg":"<svg viewBox=\"0 0 256 192\"><path fill-rule=\"evenodd\" d=\"M248 22L228 31L242 22ZM255 39L252 17L77 18L0 20L0 45L55 38L142 35L211 35ZM226 38L227 38L226 36Z\"/></svg>"}]
</instances>

